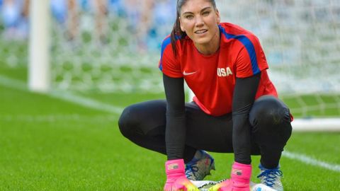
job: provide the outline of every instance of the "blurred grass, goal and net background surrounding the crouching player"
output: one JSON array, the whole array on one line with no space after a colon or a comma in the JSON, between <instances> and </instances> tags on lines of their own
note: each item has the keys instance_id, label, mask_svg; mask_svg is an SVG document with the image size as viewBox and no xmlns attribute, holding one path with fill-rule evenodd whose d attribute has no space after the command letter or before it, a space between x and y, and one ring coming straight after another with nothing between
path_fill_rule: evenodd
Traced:
<instances>
[{"instance_id":1,"label":"blurred grass, goal and net background surrounding the crouching player","mask_svg":"<svg viewBox=\"0 0 340 191\"><path fill-rule=\"evenodd\" d=\"M340 1L216 3L222 22L259 37L295 117L285 190L340 190ZM165 98L158 62L175 13L175 0L0 0L0 190L162 189L166 157L125 139L118 117ZM233 155L213 156L208 180L222 180Z\"/></svg>"}]
</instances>

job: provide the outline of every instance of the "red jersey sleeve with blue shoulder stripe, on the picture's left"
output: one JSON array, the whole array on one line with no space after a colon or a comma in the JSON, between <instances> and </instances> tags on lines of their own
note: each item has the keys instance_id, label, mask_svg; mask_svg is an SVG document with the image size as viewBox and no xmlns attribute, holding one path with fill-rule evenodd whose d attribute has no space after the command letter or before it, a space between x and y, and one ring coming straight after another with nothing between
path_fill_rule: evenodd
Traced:
<instances>
[{"instance_id":1,"label":"red jersey sleeve with blue shoulder stripe, on the picture's left","mask_svg":"<svg viewBox=\"0 0 340 191\"><path fill-rule=\"evenodd\" d=\"M176 59L171 46L171 37L168 36L162 42L161 59L159 60L159 69L166 76L172 78L181 78L181 64Z\"/></svg>"}]
</instances>

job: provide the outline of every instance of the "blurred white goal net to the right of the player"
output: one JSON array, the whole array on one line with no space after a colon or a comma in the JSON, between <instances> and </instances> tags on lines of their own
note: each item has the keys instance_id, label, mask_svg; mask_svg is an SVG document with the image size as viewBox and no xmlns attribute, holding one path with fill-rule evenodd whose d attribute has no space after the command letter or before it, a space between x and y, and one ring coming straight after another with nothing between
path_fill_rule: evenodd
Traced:
<instances>
[{"instance_id":1,"label":"blurred white goal net to the right of the player","mask_svg":"<svg viewBox=\"0 0 340 191\"><path fill-rule=\"evenodd\" d=\"M261 40L269 75L297 116L340 116L340 1L218 1Z\"/></svg>"}]
</instances>

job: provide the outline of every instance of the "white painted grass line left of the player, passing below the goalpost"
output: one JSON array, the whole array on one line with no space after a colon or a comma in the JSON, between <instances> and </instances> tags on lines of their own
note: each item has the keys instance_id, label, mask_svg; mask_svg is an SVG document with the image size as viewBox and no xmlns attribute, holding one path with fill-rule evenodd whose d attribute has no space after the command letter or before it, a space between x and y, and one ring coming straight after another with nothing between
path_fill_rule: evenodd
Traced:
<instances>
[{"instance_id":1,"label":"white painted grass line left of the player, passing below the goalpost","mask_svg":"<svg viewBox=\"0 0 340 191\"><path fill-rule=\"evenodd\" d=\"M0 75L0 84L6 86L8 88L16 88L22 91L29 91L27 88L27 84L23 81L19 81L16 79L10 79L6 76ZM52 91L47 94L52 98L57 98L60 100L66 100L70 103L75 103L77 105L84 106L86 108L92 108L96 110L111 112L120 115L123 111L123 108L119 108L113 105L108 105L107 103L101 103L97 100L93 100L91 98L86 98L83 96L76 95L74 93L64 92L64 91Z\"/></svg>"}]
</instances>

